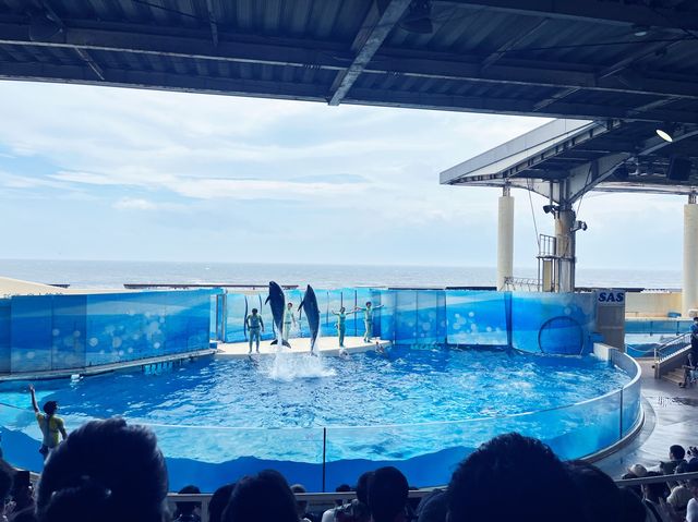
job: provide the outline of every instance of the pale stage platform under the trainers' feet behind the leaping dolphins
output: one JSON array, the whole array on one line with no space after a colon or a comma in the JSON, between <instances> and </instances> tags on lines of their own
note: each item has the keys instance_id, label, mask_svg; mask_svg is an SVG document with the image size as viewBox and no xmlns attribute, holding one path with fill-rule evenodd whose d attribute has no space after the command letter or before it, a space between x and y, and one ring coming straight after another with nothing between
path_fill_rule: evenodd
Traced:
<instances>
[{"instance_id":1,"label":"pale stage platform under the trainers' feet behind the leaping dolphins","mask_svg":"<svg viewBox=\"0 0 698 522\"><path fill-rule=\"evenodd\" d=\"M291 348L284 347L282 350L286 353L310 353L310 339L309 338L294 338L288 340ZM381 340L380 338L373 338L373 341L368 343L363 341L361 337L345 337L345 350L347 353L362 353L371 350L375 350L376 345L385 349L390 345L389 341ZM253 347L253 352L255 348ZM315 351L323 355L339 355L339 341L336 337L318 337L315 341ZM278 352L278 347L272 344L272 341L260 342L260 355L274 355ZM230 342L218 343L218 352L216 357L220 359L242 359L250 354L249 342Z\"/></svg>"}]
</instances>

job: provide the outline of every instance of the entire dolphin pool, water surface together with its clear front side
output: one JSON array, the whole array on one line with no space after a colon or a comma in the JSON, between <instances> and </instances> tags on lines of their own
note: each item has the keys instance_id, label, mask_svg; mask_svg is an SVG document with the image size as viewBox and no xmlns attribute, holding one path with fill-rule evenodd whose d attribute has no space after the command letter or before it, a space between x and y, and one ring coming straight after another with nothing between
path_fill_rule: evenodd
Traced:
<instances>
[{"instance_id":1,"label":"entire dolphin pool, water surface together with its clear front side","mask_svg":"<svg viewBox=\"0 0 698 522\"><path fill-rule=\"evenodd\" d=\"M443 484L473 448L509 430L541 438L563 458L593 453L639 418L631 377L592 355L396 345L385 355L203 359L36 386L39 401L59 401L69 429L112 415L149 425L171 489L213 490L276 468L332 490L385 464L417 486ZM26 385L0 387L3 449L38 471Z\"/></svg>"}]
</instances>

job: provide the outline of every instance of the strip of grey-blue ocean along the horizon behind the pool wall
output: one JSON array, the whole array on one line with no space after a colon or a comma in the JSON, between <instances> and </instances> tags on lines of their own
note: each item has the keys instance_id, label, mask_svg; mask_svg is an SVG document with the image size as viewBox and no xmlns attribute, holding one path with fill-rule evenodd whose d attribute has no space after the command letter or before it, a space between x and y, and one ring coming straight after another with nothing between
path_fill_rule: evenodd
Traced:
<instances>
[{"instance_id":1,"label":"strip of grey-blue ocean along the horizon behind the pool wall","mask_svg":"<svg viewBox=\"0 0 698 522\"><path fill-rule=\"evenodd\" d=\"M515 268L515 277L534 278L535 267ZM0 259L0 277L70 284L85 289L121 289L125 283L313 284L341 287L489 287L496 268L482 266L333 265L270 263L197 263L135 260ZM577 269L578 287L679 289L681 270Z\"/></svg>"}]
</instances>

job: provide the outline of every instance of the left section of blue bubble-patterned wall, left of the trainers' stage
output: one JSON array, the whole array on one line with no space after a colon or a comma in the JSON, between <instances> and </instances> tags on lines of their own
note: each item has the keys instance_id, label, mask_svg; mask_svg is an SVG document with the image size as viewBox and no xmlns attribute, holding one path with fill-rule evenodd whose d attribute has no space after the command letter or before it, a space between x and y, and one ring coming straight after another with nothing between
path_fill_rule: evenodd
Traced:
<instances>
[{"instance_id":1,"label":"left section of blue bubble-patterned wall, left of the trainers' stage","mask_svg":"<svg viewBox=\"0 0 698 522\"><path fill-rule=\"evenodd\" d=\"M212 294L195 290L0 300L0 372L80 369L207 349Z\"/></svg>"}]
</instances>

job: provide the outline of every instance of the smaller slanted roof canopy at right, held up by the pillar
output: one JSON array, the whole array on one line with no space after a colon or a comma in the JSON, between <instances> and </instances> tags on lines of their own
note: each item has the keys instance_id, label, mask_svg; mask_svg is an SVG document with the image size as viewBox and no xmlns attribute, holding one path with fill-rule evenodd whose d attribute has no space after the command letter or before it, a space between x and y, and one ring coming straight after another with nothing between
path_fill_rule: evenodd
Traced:
<instances>
[{"instance_id":1,"label":"smaller slanted roof canopy at right, held up by the pillar","mask_svg":"<svg viewBox=\"0 0 698 522\"><path fill-rule=\"evenodd\" d=\"M676 128L671 143L657 126L554 120L442 172L441 183L527 189L557 203L590 190L695 194L698 125ZM683 161L683 173L676 161Z\"/></svg>"}]
</instances>

